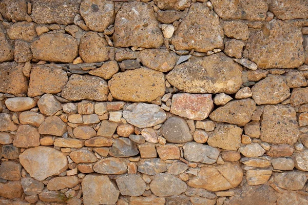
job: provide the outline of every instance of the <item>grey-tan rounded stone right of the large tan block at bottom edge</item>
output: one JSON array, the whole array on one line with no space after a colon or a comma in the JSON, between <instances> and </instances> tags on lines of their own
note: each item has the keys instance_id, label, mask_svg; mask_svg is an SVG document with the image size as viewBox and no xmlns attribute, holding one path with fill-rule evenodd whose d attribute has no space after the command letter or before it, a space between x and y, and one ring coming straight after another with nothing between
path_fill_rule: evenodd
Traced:
<instances>
[{"instance_id":1,"label":"grey-tan rounded stone right of the large tan block at bottom edge","mask_svg":"<svg viewBox=\"0 0 308 205\"><path fill-rule=\"evenodd\" d=\"M117 180L120 193L124 196L140 196L145 191L145 182L135 174L119 177Z\"/></svg>"}]
</instances>

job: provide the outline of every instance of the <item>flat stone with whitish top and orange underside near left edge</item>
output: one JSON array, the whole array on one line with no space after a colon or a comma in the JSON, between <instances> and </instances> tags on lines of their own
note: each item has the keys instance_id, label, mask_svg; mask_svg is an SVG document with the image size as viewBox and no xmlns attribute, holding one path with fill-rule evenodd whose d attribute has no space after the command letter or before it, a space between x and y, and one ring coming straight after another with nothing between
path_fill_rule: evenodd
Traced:
<instances>
[{"instance_id":1,"label":"flat stone with whitish top and orange underside near left edge","mask_svg":"<svg viewBox=\"0 0 308 205\"><path fill-rule=\"evenodd\" d=\"M6 107L13 112L30 110L36 106L36 101L31 97L12 97L5 100Z\"/></svg>"}]
</instances>

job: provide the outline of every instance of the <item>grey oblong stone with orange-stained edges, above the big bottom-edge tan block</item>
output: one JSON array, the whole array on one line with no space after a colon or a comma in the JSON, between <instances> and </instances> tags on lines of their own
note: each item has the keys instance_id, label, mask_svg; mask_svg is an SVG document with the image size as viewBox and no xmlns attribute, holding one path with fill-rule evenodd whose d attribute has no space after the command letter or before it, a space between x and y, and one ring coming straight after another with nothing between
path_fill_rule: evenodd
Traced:
<instances>
[{"instance_id":1,"label":"grey oblong stone with orange-stained edges, above the big bottom-edge tan block","mask_svg":"<svg viewBox=\"0 0 308 205\"><path fill-rule=\"evenodd\" d=\"M127 172L127 163L127 159L108 157L96 162L93 170L100 174L125 174Z\"/></svg>"}]
</instances>

